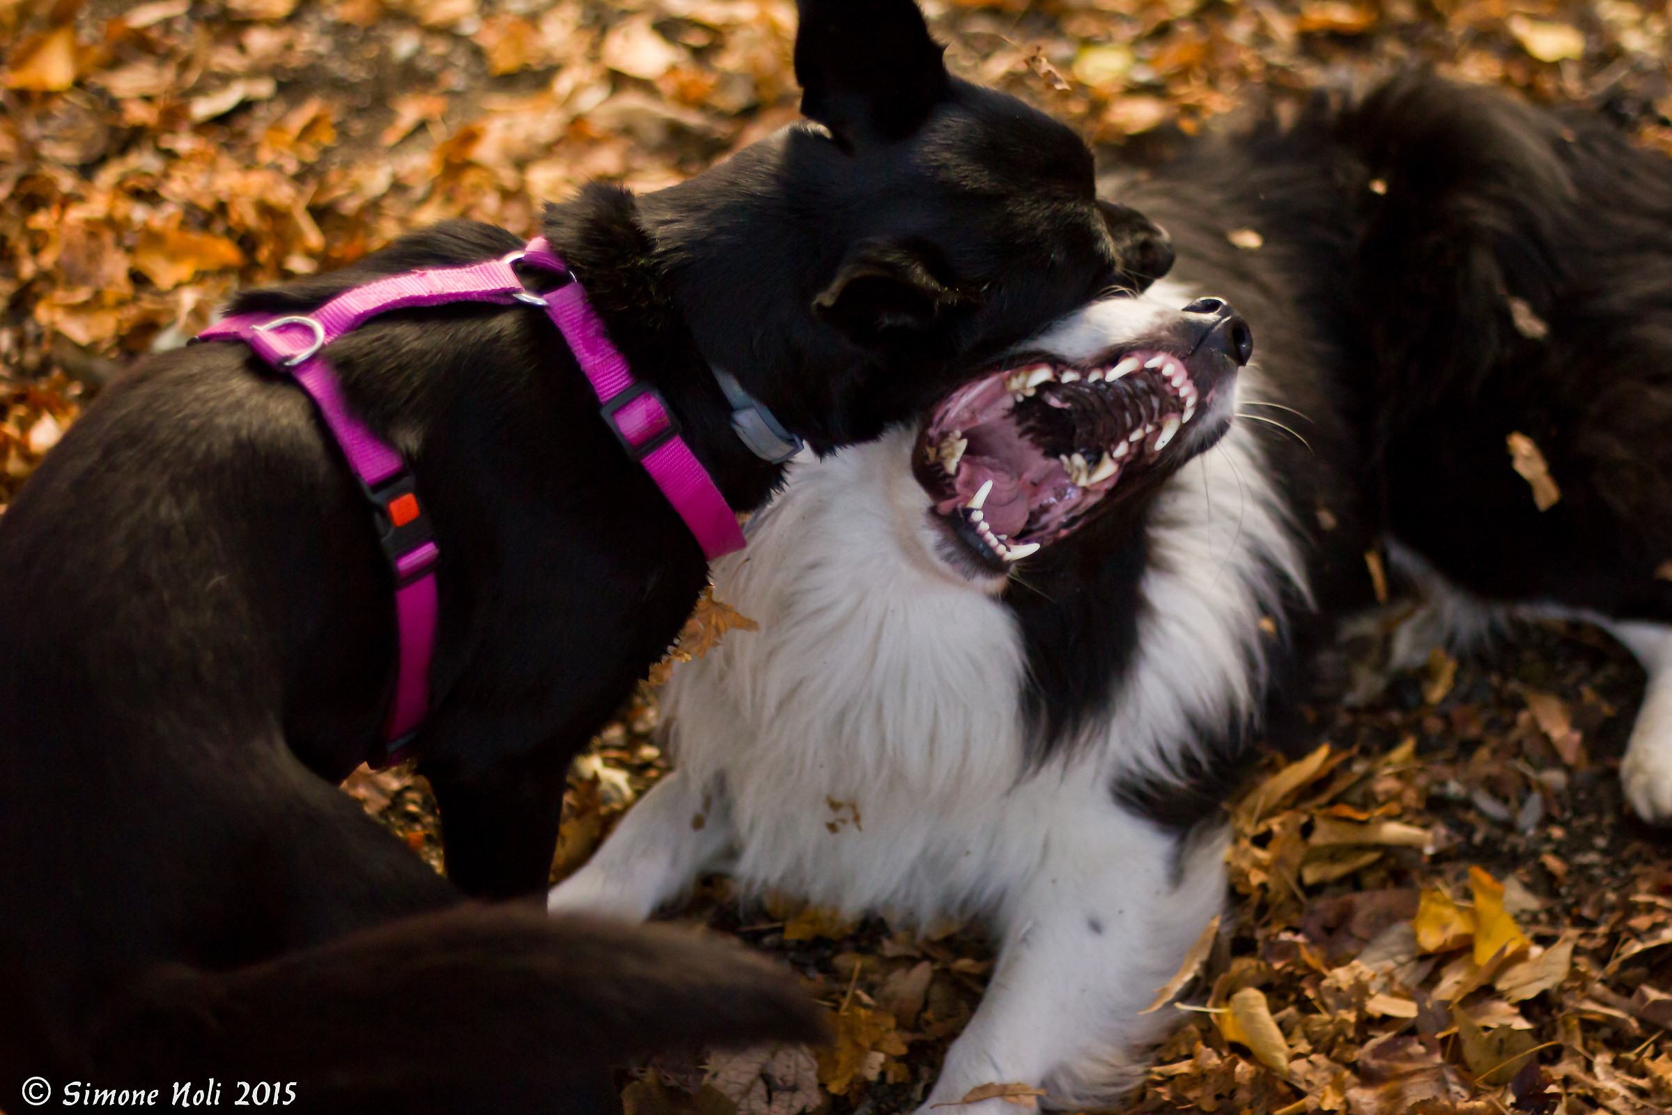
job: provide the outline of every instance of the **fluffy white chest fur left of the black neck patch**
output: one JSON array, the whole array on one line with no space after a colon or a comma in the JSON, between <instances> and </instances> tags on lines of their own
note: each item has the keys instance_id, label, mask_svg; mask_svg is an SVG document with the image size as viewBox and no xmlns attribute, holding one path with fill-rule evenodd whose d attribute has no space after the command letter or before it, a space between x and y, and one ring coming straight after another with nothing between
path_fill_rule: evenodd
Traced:
<instances>
[{"instance_id":1,"label":"fluffy white chest fur left of the black neck patch","mask_svg":"<svg viewBox=\"0 0 1672 1115\"><path fill-rule=\"evenodd\" d=\"M985 898L973 876L1015 841L997 829L1032 781L1018 786L1015 620L911 560L923 498L900 468L908 445L890 435L789 485L716 570L717 595L761 630L682 667L664 715L679 767L724 786L739 881L931 916Z\"/></svg>"}]
</instances>

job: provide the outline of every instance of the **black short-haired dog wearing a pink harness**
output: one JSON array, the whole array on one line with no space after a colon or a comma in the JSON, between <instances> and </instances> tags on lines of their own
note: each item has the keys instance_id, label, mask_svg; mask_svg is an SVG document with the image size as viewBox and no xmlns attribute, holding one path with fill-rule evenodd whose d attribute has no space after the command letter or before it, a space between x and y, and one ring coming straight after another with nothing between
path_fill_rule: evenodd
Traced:
<instances>
[{"instance_id":1,"label":"black short-haired dog wearing a pink harness","mask_svg":"<svg viewBox=\"0 0 1672 1115\"><path fill-rule=\"evenodd\" d=\"M801 7L816 124L647 197L589 187L543 229L736 510L781 468L734 436L714 368L824 451L1170 259L1095 201L1072 132L948 77L908 0ZM234 309L520 246L445 226ZM159 356L0 520L0 1095L212 1075L296 1082L306 1110L575 1110L634 1050L816 1033L694 944L461 904L545 886L568 762L706 562L545 314L390 313L326 351L441 550L411 751L451 884L333 786L383 757L391 692L361 490L242 344Z\"/></svg>"}]
</instances>

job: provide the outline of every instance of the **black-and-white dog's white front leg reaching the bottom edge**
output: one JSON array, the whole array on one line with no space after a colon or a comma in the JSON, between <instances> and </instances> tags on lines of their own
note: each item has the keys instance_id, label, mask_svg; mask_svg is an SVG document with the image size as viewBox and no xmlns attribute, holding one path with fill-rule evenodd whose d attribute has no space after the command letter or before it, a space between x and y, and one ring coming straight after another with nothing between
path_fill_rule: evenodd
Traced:
<instances>
[{"instance_id":1,"label":"black-and-white dog's white front leg reaching the bottom edge","mask_svg":"<svg viewBox=\"0 0 1672 1115\"><path fill-rule=\"evenodd\" d=\"M1042 1087L1053 1107L1109 1107L1144 1070L1139 1046L1177 1020L1174 1008L1139 1011L1224 906L1224 834L1180 844L1112 802L1085 812L1050 819L1037 874L1005 899L998 970L920 1115L988 1083Z\"/></svg>"}]
</instances>

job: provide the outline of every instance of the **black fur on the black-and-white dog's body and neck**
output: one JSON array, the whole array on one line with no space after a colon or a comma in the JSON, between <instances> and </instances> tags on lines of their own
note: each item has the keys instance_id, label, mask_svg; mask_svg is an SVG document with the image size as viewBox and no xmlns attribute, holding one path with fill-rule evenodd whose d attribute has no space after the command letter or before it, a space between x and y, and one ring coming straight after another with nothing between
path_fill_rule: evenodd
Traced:
<instances>
[{"instance_id":1,"label":"black fur on the black-and-white dog's body and neck","mask_svg":"<svg viewBox=\"0 0 1672 1115\"><path fill-rule=\"evenodd\" d=\"M1264 724L1197 726L1200 759L1122 801L1177 829L1214 814L1261 732L1287 734L1334 620L1371 603L1363 555L1384 535L1488 600L1672 619L1654 575L1672 557L1672 162L1585 110L1411 74L1184 140L1104 191L1169 229L1175 277L1237 308L1299 411L1266 415L1299 436L1256 433L1314 590L1274 617ZM1259 251L1227 241L1247 227ZM1510 431L1548 460L1552 510L1510 468ZM1129 500L1008 590L1037 761L1117 699L1164 528Z\"/></svg>"}]
</instances>

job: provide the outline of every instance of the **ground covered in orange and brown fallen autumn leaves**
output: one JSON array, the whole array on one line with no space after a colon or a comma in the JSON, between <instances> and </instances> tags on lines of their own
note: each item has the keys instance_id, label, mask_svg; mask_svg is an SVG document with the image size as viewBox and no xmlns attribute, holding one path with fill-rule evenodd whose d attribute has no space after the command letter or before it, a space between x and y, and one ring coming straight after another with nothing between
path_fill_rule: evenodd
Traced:
<instances>
[{"instance_id":1,"label":"ground covered in orange and brown fallen autumn leaves","mask_svg":"<svg viewBox=\"0 0 1672 1115\"><path fill-rule=\"evenodd\" d=\"M1649 0L926 8L956 72L1129 152L1416 62L1672 152ZM587 177L654 189L794 119L793 30L791 0L0 0L0 507L85 400L236 286L441 217L530 232ZM682 652L739 620L707 603ZM1313 751L1232 809L1237 903L1157 990L1184 1025L1127 1110L1672 1108L1672 843L1613 774L1640 687L1595 632L1537 627L1308 709ZM555 876L665 769L654 724L635 700L577 764ZM349 791L440 868L420 782ZM630 1112L910 1110L991 966L973 926L846 924L724 879L679 916L784 958L839 1040L664 1058L624 1078Z\"/></svg>"}]
</instances>

